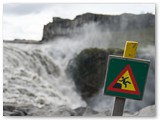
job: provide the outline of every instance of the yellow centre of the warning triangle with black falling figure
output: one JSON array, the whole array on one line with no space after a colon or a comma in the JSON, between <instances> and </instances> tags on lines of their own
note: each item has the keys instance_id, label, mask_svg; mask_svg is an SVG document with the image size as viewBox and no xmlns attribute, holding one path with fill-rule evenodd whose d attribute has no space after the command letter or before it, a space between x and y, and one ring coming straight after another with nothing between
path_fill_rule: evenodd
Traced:
<instances>
[{"instance_id":1,"label":"yellow centre of the warning triangle with black falling figure","mask_svg":"<svg viewBox=\"0 0 160 120\"><path fill-rule=\"evenodd\" d=\"M117 83L122 85L122 90L136 91L128 70L120 77Z\"/></svg>"}]
</instances>

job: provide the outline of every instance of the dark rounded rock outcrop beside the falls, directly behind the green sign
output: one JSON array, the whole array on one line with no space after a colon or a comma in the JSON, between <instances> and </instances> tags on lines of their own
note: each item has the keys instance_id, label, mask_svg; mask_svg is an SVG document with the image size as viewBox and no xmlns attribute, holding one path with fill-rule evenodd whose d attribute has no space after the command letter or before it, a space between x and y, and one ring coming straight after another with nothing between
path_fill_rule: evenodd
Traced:
<instances>
[{"instance_id":1,"label":"dark rounded rock outcrop beside the falls, directly behind the green sign","mask_svg":"<svg viewBox=\"0 0 160 120\"><path fill-rule=\"evenodd\" d=\"M90 48L82 50L67 67L83 99L95 95L104 84L108 55L122 55L121 49Z\"/></svg>"}]
</instances>

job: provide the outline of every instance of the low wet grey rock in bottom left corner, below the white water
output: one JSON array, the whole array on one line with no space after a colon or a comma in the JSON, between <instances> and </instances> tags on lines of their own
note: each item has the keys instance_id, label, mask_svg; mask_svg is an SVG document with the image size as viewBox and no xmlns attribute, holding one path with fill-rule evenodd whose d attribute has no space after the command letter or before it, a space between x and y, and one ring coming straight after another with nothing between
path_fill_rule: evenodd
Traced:
<instances>
[{"instance_id":1,"label":"low wet grey rock in bottom left corner, below the white water","mask_svg":"<svg viewBox=\"0 0 160 120\"><path fill-rule=\"evenodd\" d=\"M76 116L76 112L67 106L44 106L4 104L4 116Z\"/></svg>"}]
</instances>

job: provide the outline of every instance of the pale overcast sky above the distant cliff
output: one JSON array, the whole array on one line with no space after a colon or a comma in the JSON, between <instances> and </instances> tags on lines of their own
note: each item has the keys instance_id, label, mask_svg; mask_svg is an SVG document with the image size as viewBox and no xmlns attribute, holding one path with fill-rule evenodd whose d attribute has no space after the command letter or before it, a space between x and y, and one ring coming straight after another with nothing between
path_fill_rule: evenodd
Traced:
<instances>
[{"instance_id":1,"label":"pale overcast sky above the distant cliff","mask_svg":"<svg viewBox=\"0 0 160 120\"><path fill-rule=\"evenodd\" d=\"M155 14L155 4L4 4L3 39L40 40L43 26L53 17L73 19L86 12Z\"/></svg>"}]
</instances>

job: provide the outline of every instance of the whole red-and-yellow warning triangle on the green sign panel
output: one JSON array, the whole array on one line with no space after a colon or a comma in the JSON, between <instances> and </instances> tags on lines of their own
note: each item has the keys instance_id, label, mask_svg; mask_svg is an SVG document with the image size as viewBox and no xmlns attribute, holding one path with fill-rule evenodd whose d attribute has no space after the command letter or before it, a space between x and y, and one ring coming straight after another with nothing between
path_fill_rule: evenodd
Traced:
<instances>
[{"instance_id":1,"label":"whole red-and-yellow warning triangle on the green sign panel","mask_svg":"<svg viewBox=\"0 0 160 120\"><path fill-rule=\"evenodd\" d=\"M130 65L127 65L121 73L108 86L107 90L140 95L139 88L134 78Z\"/></svg>"}]
</instances>

